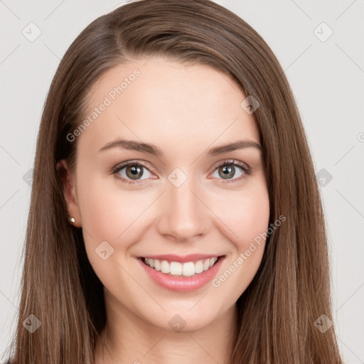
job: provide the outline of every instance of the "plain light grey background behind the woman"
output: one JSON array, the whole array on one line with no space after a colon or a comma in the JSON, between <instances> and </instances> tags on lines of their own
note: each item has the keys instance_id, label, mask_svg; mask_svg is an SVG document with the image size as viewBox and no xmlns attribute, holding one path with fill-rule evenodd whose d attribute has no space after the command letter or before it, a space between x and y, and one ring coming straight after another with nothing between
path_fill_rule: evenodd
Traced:
<instances>
[{"instance_id":1,"label":"plain light grey background behind the woman","mask_svg":"<svg viewBox=\"0 0 364 364\"><path fill-rule=\"evenodd\" d=\"M291 83L322 184L338 343L346 363L364 363L364 1L216 2L262 35ZM19 299L31 192L23 176L33 165L50 81L78 33L119 4L0 1L0 360L14 333ZM22 33L36 34L31 22L41 29L33 42ZM326 41L329 29L322 22L333 31Z\"/></svg>"}]
</instances>

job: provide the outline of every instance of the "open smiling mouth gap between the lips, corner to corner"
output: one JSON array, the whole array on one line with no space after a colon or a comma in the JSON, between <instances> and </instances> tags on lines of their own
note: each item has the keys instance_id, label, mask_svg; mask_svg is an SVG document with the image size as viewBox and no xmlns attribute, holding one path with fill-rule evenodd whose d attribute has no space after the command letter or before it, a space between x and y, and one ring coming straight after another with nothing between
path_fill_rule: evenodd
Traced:
<instances>
[{"instance_id":1,"label":"open smiling mouth gap between the lips, corner to corner","mask_svg":"<svg viewBox=\"0 0 364 364\"><path fill-rule=\"evenodd\" d=\"M139 257L141 262L157 272L171 277L193 277L211 269L225 255L206 256L203 259L191 259L191 261L178 262L175 260L152 259L151 257Z\"/></svg>"}]
</instances>

